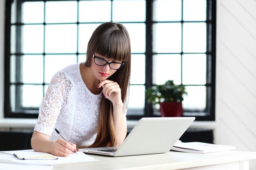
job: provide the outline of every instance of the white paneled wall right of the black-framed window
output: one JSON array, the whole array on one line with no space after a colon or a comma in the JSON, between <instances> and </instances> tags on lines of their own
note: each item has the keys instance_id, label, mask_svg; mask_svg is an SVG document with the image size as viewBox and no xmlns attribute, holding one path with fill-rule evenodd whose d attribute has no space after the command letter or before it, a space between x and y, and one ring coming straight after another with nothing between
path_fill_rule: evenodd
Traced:
<instances>
[{"instance_id":1,"label":"white paneled wall right of the black-framed window","mask_svg":"<svg viewBox=\"0 0 256 170\"><path fill-rule=\"evenodd\" d=\"M217 0L216 46L214 142L256 152L256 0Z\"/></svg>"}]
</instances>

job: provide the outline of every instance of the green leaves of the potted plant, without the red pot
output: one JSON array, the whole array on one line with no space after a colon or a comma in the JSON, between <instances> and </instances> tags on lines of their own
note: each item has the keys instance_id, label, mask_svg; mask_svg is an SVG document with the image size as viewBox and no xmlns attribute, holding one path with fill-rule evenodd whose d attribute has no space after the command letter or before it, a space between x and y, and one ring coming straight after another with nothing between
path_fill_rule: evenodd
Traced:
<instances>
[{"instance_id":1,"label":"green leaves of the potted plant, without the red pot","mask_svg":"<svg viewBox=\"0 0 256 170\"><path fill-rule=\"evenodd\" d=\"M151 86L146 89L147 101L152 104L162 102L182 102L183 95L187 95L184 85L176 85L173 80L168 80L165 84Z\"/></svg>"}]
</instances>

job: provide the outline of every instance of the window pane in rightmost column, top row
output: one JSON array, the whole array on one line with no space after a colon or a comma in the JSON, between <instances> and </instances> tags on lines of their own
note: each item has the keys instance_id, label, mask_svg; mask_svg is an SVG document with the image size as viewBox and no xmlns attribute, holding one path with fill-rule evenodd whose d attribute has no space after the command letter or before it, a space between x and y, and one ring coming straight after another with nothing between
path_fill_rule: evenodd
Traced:
<instances>
[{"instance_id":1,"label":"window pane in rightmost column, top row","mask_svg":"<svg viewBox=\"0 0 256 170\"><path fill-rule=\"evenodd\" d=\"M206 0L183 0L184 21L205 21Z\"/></svg>"}]
</instances>

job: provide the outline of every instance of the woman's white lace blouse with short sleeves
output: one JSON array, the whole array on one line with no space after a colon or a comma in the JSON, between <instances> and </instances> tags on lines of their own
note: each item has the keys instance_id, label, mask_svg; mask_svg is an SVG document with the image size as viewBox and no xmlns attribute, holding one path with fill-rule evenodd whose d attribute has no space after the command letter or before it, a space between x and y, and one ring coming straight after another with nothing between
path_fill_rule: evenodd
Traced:
<instances>
[{"instance_id":1,"label":"woman's white lace blouse with short sleeves","mask_svg":"<svg viewBox=\"0 0 256 170\"><path fill-rule=\"evenodd\" d=\"M92 94L84 84L80 63L67 66L52 77L34 130L55 141L61 138L56 128L76 146L91 145L97 135L100 100L101 93ZM127 110L123 110L126 124Z\"/></svg>"}]
</instances>

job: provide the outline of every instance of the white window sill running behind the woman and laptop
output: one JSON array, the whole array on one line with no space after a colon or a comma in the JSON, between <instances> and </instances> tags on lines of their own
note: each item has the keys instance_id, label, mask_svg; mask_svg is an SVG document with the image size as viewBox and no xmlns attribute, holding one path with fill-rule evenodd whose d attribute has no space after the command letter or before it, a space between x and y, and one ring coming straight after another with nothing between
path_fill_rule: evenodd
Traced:
<instances>
[{"instance_id":1,"label":"white window sill running behind the woman and laptop","mask_svg":"<svg viewBox=\"0 0 256 170\"><path fill-rule=\"evenodd\" d=\"M37 119L0 119L0 130L33 130ZM127 128L132 129L137 124L136 120L128 120ZM215 121L194 121L189 128L214 130Z\"/></svg>"}]
</instances>

